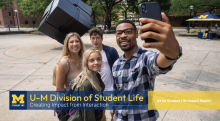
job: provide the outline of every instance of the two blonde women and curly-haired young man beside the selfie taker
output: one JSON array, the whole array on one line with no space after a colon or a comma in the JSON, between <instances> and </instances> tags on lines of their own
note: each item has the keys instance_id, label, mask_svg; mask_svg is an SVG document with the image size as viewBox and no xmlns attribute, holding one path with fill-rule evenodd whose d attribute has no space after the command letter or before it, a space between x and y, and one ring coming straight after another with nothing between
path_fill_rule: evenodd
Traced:
<instances>
[{"instance_id":1,"label":"two blonde women and curly-haired young man beside the selfie taker","mask_svg":"<svg viewBox=\"0 0 220 121\"><path fill-rule=\"evenodd\" d=\"M115 48L102 44L101 29L93 28L89 31L89 35L93 48L85 51L85 45L77 33L67 34L58 66L57 91L64 91L71 81L74 82L71 88L76 86L74 91L113 91L112 66L119 57L118 52ZM76 115L83 114L82 117L86 121L95 121L98 118L106 121L105 115L96 117L96 111L78 112L75 112L69 119L77 121ZM99 111L99 114L103 113ZM111 115L113 117L113 111Z\"/></svg>"}]
</instances>

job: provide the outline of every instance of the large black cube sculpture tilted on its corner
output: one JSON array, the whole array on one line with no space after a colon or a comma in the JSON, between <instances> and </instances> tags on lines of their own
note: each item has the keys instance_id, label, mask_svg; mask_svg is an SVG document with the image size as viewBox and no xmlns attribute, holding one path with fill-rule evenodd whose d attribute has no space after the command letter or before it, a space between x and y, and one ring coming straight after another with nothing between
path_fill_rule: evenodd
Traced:
<instances>
[{"instance_id":1,"label":"large black cube sculpture tilted on its corner","mask_svg":"<svg viewBox=\"0 0 220 121\"><path fill-rule=\"evenodd\" d=\"M53 0L38 30L63 44L69 32L82 36L90 29L91 11L81 0Z\"/></svg>"}]
</instances>

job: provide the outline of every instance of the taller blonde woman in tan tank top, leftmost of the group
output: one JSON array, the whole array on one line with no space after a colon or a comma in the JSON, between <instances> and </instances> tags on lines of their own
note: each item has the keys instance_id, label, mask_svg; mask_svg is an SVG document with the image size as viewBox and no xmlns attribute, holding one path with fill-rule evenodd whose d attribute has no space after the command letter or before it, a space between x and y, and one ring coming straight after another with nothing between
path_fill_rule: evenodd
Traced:
<instances>
[{"instance_id":1,"label":"taller blonde woman in tan tank top, leftmost of the group","mask_svg":"<svg viewBox=\"0 0 220 121\"><path fill-rule=\"evenodd\" d=\"M69 33L64 40L63 54L59 61L56 90L64 91L71 80L82 71L82 55L85 45L77 33Z\"/></svg>"}]
</instances>

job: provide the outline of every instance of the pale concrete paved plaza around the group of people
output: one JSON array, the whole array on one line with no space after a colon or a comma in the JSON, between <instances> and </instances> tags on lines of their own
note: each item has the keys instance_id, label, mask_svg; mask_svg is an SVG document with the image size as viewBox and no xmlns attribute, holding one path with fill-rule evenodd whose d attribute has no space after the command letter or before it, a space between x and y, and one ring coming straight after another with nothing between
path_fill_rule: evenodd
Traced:
<instances>
[{"instance_id":1,"label":"pale concrete paved plaza around the group of people","mask_svg":"<svg viewBox=\"0 0 220 121\"><path fill-rule=\"evenodd\" d=\"M175 33L185 31L174 30ZM220 39L176 38L183 48L183 56L172 71L156 78L155 90L220 90ZM88 34L82 39L86 48L92 47ZM140 38L137 41L142 46ZM57 120L51 110L9 110L9 91L55 90L52 71L61 57L63 45L47 36L31 34L0 35L0 43L0 120ZM114 34L105 34L103 43L115 47L119 55L123 54ZM159 113L158 121L220 120L219 110L159 110ZM110 121L109 113L107 117Z\"/></svg>"}]
</instances>

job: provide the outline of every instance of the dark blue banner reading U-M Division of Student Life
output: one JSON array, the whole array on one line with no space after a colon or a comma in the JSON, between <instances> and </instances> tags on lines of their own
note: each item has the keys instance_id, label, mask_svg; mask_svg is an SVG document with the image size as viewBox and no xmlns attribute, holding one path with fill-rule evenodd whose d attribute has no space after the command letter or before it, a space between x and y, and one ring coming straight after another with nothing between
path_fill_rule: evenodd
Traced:
<instances>
[{"instance_id":1,"label":"dark blue banner reading U-M Division of Student Life","mask_svg":"<svg viewBox=\"0 0 220 121\"><path fill-rule=\"evenodd\" d=\"M10 91L10 110L147 110L146 91Z\"/></svg>"}]
</instances>

